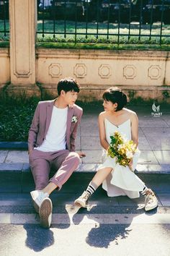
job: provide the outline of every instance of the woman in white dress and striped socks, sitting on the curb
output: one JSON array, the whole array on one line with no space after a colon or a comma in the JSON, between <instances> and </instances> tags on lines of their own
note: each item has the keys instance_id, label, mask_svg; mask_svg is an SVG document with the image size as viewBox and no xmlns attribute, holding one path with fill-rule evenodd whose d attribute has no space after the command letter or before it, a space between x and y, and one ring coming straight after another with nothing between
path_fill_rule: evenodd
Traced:
<instances>
[{"instance_id":1,"label":"woman in white dress and striped socks, sitting on the curb","mask_svg":"<svg viewBox=\"0 0 170 256\"><path fill-rule=\"evenodd\" d=\"M75 205L86 207L89 197L102 184L109 197L127 195L130 198L139 197L141 192L146 197L145 210L152 210L158 206L158 200L151 189L148 189L141 179L134 174L140 151L136 150L129 166L120 166L115 158L106 154L111 141L110 136L115 131L120 132L138 147L138 116L134 111L125 108L128 97L120 88L109 88L103 94L104 112L99 114L99 137L104 148L104 163L99 166L97 174L89 183L83 194L75 200Z\"/></svg>"}]
</instances>

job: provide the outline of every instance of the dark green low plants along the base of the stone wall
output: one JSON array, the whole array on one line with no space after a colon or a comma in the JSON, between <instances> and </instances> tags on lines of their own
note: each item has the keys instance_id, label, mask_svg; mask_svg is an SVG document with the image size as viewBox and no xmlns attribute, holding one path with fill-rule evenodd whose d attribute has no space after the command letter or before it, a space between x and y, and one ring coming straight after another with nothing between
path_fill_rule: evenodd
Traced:
<instances>
[{"instance_id":1,"label":"dark green low plants along the base of the stone wall","mask_svg":"<svg viewBox=\"0 0 170 256\"><path fill-rule=\"evenodd\" d=\"M143 107L151 108L153 100L143 101L142 98L133 98L128 103L128 107L139 109ZM43 100L47 100L44 98ZM32 122L32 117L35 112L38 101L40 98L32 97L27 98L25 95L19 98L0 98L0 141L22 141L27 142L28 131ZM95 101L92 103L85 103L81 101L76 102L79 106L84 108L84 114L90 114L94 111L95 114L103 111L102 101ZM156 104L158 105L157 101ZM142 108L140 107L142 106ZM166 106L167 103L161 103L161 107Z\"/></svg>"}]
</instances>

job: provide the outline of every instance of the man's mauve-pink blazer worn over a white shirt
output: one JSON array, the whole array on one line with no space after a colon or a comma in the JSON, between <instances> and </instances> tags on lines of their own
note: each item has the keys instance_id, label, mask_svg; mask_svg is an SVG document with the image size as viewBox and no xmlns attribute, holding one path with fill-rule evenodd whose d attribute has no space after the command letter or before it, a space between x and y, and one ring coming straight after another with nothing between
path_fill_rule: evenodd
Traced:
<instances>
[{"instance_id":1,"label":"man's mauve-pink blazer worn over a white shirt","mask_svg":"<svg viewBox=\"0 0 170 256\"><path fill-rule=\"evenodd\" d=\"M45 139L48 132L48 127L50 126L54 101L55 100L40 101L37 104L28 135L28 150L40 146ZM73 104L73 106L68 106L66 148L70 151L75 151L76 132L78 124L81 121L82 114L82 108L76 104ZM76 116L76 122L72 120L73 116Z\"/></svg>"}]
</instances>

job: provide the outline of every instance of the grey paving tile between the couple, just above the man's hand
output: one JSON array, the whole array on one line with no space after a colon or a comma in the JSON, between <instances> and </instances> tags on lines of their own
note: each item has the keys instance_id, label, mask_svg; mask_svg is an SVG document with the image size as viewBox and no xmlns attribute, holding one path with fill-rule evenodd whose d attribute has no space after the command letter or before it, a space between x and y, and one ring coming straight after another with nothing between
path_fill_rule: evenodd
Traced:
<instances>
[{"instance_id":1,"label":"grey paving tile between the couple, just above the man's hand","mask_svg":"<svg viewBox=\"0 0 170 256\"><path fill-rule=\"evenodd\" d=\"M82 150L102 150L99 138L97 137L81 137Z\"/></svg>"}]
</instances>

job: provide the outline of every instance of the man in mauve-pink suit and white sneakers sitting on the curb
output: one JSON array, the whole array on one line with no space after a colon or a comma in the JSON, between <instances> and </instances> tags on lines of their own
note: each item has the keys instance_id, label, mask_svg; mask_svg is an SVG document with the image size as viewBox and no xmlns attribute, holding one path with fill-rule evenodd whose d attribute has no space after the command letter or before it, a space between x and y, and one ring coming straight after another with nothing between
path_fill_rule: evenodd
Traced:
<instances>
[{"instance_id":1,"label":"man in mauve-pink suit and white sneakers sitting on the curb","mask_svg":"<svg viewBox=\"0 0 170 256\"><path fill-rule=\"evenodd\" d=\"M51 223L50 193L61 189L79 166L79 158L85 156L75 152L76 132L83 114L82 108L75 104L79 90L73 78L59 81L58 98L40 101L32 119L28 150L35 190L30 194L44 228L49 228ZM49 181L52 164L58 171Z\"/></svg>"}]
</instances>

